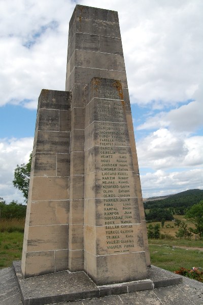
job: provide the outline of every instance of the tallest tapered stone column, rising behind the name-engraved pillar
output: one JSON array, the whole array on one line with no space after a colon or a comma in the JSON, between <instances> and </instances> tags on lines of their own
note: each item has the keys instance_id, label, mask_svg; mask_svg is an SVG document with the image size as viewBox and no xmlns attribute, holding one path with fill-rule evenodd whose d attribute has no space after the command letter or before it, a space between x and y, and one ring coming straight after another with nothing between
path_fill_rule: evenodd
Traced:
<instances>
[{"instance_id":1,"label":"tallest tapered stone column, rising behind the name-engraved pillar","mask_svg":"<svg viewBox=\"0 0 203 305\"><path fill-rule=\"evenodd\" d=\"M69 47L67 51L65 86L67 91L73 92L72 120L75 120L74 123L72 123L71 131L69 269L72 271L83 269L84 192L82 189L84 185L84 167L80 166L80 170L78 171L78 169L76 169L76 164L79 164L84 160L85 105L82 97L83 90L90 83L93 77L116 79L121 81L123 100L125 101L126 122L132 152L134 179L136 181L146 250L146 260L147 265L150 265L137 151L134 142L118 13L115 11L77 5L69 24ZM81 161L78 163L76 160ZM76 184L72 183L72 181L76 181ZM74 213L77 217L73 217Z\"/></svg>"}]
</instances>

